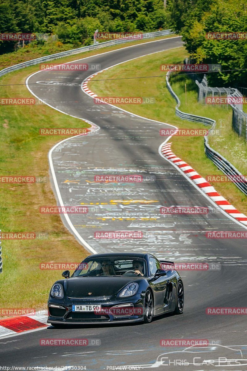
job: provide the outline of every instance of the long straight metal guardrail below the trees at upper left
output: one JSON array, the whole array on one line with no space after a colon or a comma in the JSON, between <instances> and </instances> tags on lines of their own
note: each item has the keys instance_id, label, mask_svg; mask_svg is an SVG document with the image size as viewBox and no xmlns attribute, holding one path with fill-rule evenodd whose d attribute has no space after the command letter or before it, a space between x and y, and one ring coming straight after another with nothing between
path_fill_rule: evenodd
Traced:
<instances>
[{"instance_id":1,"label":"long straight metal guardrail below the trees at upper left","mask_svg":"<svg viewBox=\"0 0 247 371\"><path fill-rule=\"evenodd\" d=\"M148 32L148 33L143 33L142 39L151 39L152 37L158 37L158 36L166 36L166 35L172 35L175 32L171 30L162 30L162 31L156 31L156 32ZM60 52L56 54L51 54L47 55L45 57L40 57L36 59L31 59L28 60L27 62L19 63L18 65L10 66L7 68L4 68L0 71L0 77L6 75L6 73L13 72L16 70L19 70L21 68L37 65L38 63L41 62L47 62L52 59L57 59L57 58L62 58L66 57L69 55L75 55L83 52L88 52L90 50L96 50L96 49L101 49L106 46L113 46L113 45L118 45L126 42L131 42L131 41L136 41L136 40L141 40L141 39L130 39L128 37L123 37L122 39L117 39L117 40L110 40L110 41L105 41L102 43L99 43L97 45L89 45L89 46L83 46L78 49L71 49L67 50L65 52Z\"/></svg>"}]
</instances>

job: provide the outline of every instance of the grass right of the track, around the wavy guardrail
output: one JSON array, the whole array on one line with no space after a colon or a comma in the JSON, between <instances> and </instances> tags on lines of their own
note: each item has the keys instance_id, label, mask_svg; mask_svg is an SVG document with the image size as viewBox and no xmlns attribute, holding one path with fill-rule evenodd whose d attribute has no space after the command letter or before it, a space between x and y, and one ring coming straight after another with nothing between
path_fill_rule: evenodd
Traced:
<instances>
[{"instance_id":1,"label":"grass right of the track, around the wavy guardrail","mask_svg":"<svg viewBox=\"0 0 247 371\"><path fill-rule=\"evenodd\" d=\"M100 79L116 79L124 77L138 77L138 76L154 76L164 75L160 71L161 63L181 63L187 56L186 50L176 48L167 50L161 53L156 53L151 56L136 59L131 62L126 62L122 65L111 68L100 74ZM98 75L99 76L99 75ZM94 81L99 77L96 76L89 83L91 91L97 93L99 96L153 96L156 100L155 104L146 105L119 105L120 108L127 109L137 115L141 115L150 119L167 122L167 124L176 125L179 128L203 128L204 125L196 124L179 119L175 115L175 100L171 97L166 88L165 77L146 78L146 79L130 79L130 80L113 80L113 81ZM189 79L187 81L181 80L182 77L173 78L172 86L174 91L178 93L181 99L181 109L207 117L216 119L220 125L222 133L227 131L229 134L229 125L231 122L231 110L227 107L205 106L197 103L197 91L195 84ZM127 82L127 83L126 83ZM187 82L187 97L185 103L184 83ZM228 126L227 126L228 125ZM217 127L218 128L218 127ZM233 133L232 135L234 135ZM222 134L221 134L222 135ZM230 134L229 134L230 135ZM218 137L211 138L210 143L215 148L215 142ZM225 139L220 137L223 146ZM236 138L237 141L238 138ZM241 139L239 138L239 143ZM161 141L160 141L161 142ZM157 148L160 145L157 143ZM211 162L204 153L203 137L173 137L172 149L174 153L180 156L184 161L187 161L193 168L195 168L202 176L216 174L222 175L221 171ZM221 148L216 148L221 151ZM227 155L226 155L227 157ZM229 158L229 160L231 160ZM239 170L242 170L240 167ZM244 172L243 172L244 173ZM245 173L244 173L245 174ZM233 183L213 183L214 187L222 196L226 197L238 210L247 213L247 197L238 190Z\"/></svg>"}]
</instances>

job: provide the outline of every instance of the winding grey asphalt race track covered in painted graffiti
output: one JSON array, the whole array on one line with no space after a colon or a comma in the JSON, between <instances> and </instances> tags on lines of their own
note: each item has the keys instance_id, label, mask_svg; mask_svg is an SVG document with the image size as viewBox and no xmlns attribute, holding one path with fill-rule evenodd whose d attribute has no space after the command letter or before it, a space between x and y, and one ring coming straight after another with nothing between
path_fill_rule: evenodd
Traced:
<instances>
[{"instance_id":1,"label":"winding grey asphalt race track covered in painted graffiti","mask_svg":"<svg viewBox=\"0 0 247 371\"><path fill-rule=\"evenodd\" d=\"M124 60L181 45L180 38L159 40L95 55L83 59L83 62L100 63L104 69ZM160 206L212 205L207 197L158 154L162 141L159 129L166 125L111 106L96 107L93 99L81 91L80 84L68 86L59 83L81 81L89 74L41 71L28 80L29 89L34 95L47 99L53 108L100 127L97 135L67 139L51 151L51 161L64 205L84 203L97 206L96 212L70 217L79 235L77 239L80 240L81 236L97 252L148 250L168 260L221 263L222 268L211 272L181 272L186 294L183 315L166 315L148 325L101 325L60 330L50 326L42 331L13 336L1 340L0 358L3 365L85 365L87 370L107 370L107 367L113 365L154 364L158 355L166 350L160 347L160 339L217 340L233 348L244 345L245 316L209 316L206 315L206 308L245 306L246 242L206 239L204 234L210 230L246 229L221 212L161 216ZM44 85L38 81L56 81L59 84ZM117 187L114 184L91 183L97 174L138 172L144 176L155 175L156 182L144 182L141 186L140 183L129 183ZM66 220L64 223L71 230ZM142 240L120 241L117 244L116 241L94 239L95 231L110 230L142 230L148 233ZM40 338L53 337L97 338L101 340L101 345L86 349L39 345ZM242 348L245 352L246 347ZM168 351L181 349L168 348ZM214 352L214 358L220 354L217 347L207 347L204 351L208 352L208 357L212 357L211 352ZM198 352L201 349L197 349ZM163 368L159 364L156 366ZM177 366L170 366L169 369L177 370ZM202 370L200 367L193 369ZM186 367L186 370L191 368Z\"/></svg>"}]
</instances>

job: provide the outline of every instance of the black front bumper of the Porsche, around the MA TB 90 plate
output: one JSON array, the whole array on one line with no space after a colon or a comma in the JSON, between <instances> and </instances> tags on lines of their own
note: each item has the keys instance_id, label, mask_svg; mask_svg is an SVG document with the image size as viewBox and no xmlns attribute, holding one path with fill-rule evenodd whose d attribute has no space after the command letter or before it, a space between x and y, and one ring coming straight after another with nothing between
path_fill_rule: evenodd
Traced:
<instances>
[{"instance_id":1,"label":"black front bumper of the Porsche, around the MA TB 90 plate","mask_svg":"<svg viewBox=\"0 0 247 371\"><path fill-rule=\"evenodd\" d=\"M73 312L72 305L101 305L104 312L99 314L94 312ZM131 306L130 306L131 304ZM134 314L112 314L110 308L124 306L133 308ZM120 307L121 308L121 307ZM121 312L121 311L120 311ZM137 313L137 314L136 314ZM48 301L48 319L50 324L106 324L106 323L126 323L143 321L143 298L140 294L131 298L124 298L121 302L112 298L68 298L68 302L50 298Z\"/></svg>"}]
</instances>

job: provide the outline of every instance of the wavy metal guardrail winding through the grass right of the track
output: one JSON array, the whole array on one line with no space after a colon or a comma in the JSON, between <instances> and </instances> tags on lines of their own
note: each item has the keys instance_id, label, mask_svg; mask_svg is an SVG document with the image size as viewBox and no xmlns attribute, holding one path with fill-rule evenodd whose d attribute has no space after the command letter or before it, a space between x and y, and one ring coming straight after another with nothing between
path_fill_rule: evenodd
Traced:
<instances>
[{"instance_id":1,"label":"wavy metal guardrail winding through the grass right of the track","mask_svg":"<svg viewBox=\"0 0 247 371\"><path fill-rule=\"evenodd\" d=\"M182 120L188 120L188 121L194 121L194 122L200 122L203 125L210 125L211 129L208 131L208 134L210 134L210 131L214 129L214 126L216 124L216 121L213 119L210 119L208 117L203 116L197 116L193 114L187 114L185 112L180 111L179 106L181 104L180 99L176 95L176 93L171 88L169 77L170 77L170 71L167 72L166 75L166 85L168 88L168 91L171 93L173 98L176 99L177 105L175 108L176 115L180 117ZM210 147L208 144L208 135L204 136L204 149L206 156L217 166L218 169L220 169L225 175L227 175L228 178L231 179L231 181L247 196L247 182L239 182L237 181L238 178L232 178L232 177L243 177L243 175L234 167L229 161L226 160L222 155L220 155L217 151L214 151L213 148Z\"/></svg>"}]
</instances>

